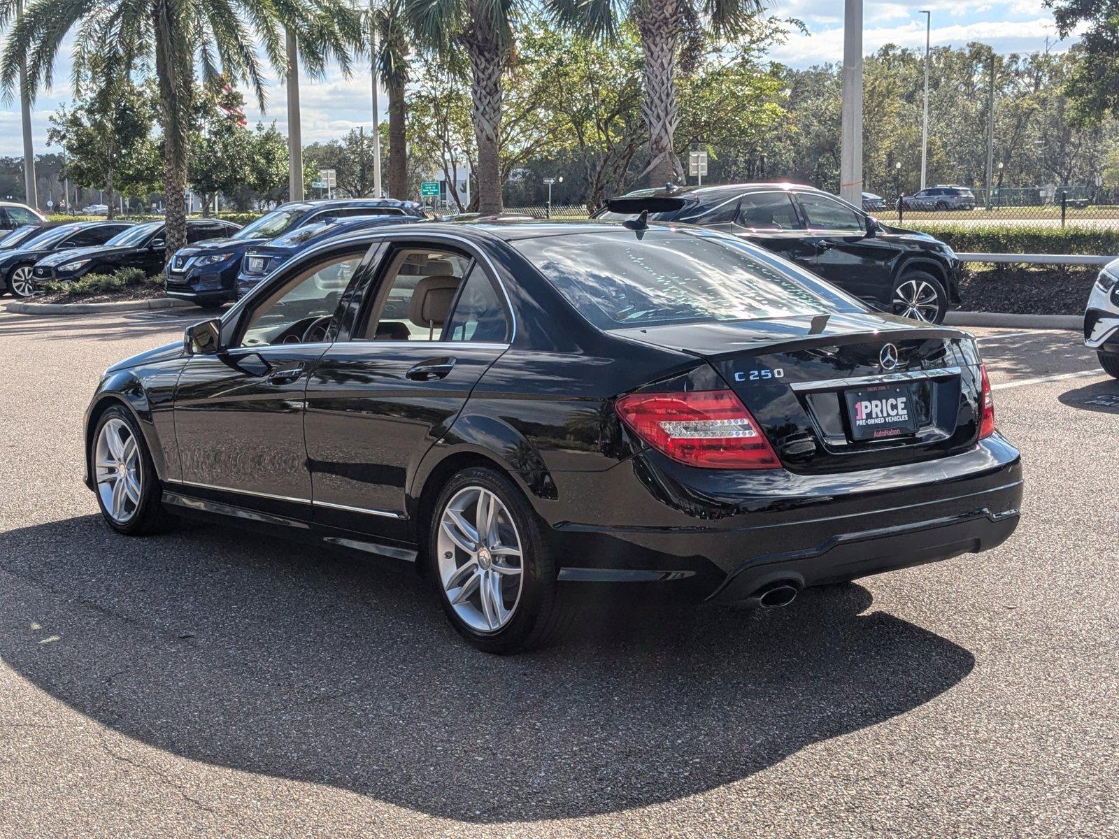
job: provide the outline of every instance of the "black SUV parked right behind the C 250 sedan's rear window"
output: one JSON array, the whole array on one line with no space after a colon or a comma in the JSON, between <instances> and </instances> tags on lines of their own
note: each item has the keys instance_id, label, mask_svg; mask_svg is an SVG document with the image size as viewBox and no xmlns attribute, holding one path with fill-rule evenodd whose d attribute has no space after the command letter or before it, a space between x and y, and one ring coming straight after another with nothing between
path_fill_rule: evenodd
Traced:
<instances>
[{"instance_id":1,"label":"black SUV parked right behind the C 250 sedan's rear window","mask_svg":"<svg viewBox=\"0 0 1119 839\"><path fill-rule=\"evenodd\" d=\"M876 309L940 323L960 302L960 262L925 233L888 227L841 198L794 183L647 189L594 218L684 221L734 233L819 274Z\"/></svg>"}]
</instances>

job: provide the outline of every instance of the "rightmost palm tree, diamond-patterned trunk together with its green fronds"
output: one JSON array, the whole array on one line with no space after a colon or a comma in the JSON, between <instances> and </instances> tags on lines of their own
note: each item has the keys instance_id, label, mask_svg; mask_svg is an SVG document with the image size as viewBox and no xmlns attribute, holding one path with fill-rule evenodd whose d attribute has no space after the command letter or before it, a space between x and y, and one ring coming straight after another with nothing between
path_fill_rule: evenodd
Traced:
<instances>
[{"instance_id":1,"label":"rightmost palm tree, diamond-patterned trunk together with its green fronds","mask_svg":"<svg viewBox=\"0 0 1119 839\"><path fill-rule=\"evenodd\" d=\"M673 148L680 122L676 103L676 59L684 35L696 26L716 37L741 35L762 0L547 0L560 22L591 38L613 40L626 19L637 26L645 53L645 101L649 129L649 164L642 176L660 186L683 180Z\"/></svg>"}]
</instances>

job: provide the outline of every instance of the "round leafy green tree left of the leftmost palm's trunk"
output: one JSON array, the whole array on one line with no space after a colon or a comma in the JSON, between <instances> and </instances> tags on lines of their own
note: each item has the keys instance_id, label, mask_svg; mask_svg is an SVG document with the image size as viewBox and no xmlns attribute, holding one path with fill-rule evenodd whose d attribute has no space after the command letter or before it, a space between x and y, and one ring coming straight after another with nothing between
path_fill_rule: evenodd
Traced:
<instances>
[{"instance_id":1,"label":"round leafy green tree left of the leftmost palm's trunk","mask_svg":"<svg viewBox=\"0 0 1119 839\"><path fill-rule=\"evenodd\" d=\"M64 177L112 195L143 197L156 189L159 158L150 136L156 103L151 91L126 77L111 77L92 94L51 115L47 142L66 149Z\"/></svg>"}]
</instances>

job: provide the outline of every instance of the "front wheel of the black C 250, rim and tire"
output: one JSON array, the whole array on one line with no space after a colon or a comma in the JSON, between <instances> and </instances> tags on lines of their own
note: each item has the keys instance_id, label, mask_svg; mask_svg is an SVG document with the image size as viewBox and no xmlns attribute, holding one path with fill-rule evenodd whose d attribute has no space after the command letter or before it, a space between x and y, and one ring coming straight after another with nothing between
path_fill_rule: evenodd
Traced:
<instances>
[{"instance_id":1,"label":"front wheel of the black C 250, rim and tire","mask_svg":"<svg viewBox=\"0 0 1119 839\"><path fill-rule=\"evenodd\" d=\"M168 524L151 453L128 408L114 405L101 415L88 458L97 506L110 527L140 536Z\"/></svg>"}]
</instances>

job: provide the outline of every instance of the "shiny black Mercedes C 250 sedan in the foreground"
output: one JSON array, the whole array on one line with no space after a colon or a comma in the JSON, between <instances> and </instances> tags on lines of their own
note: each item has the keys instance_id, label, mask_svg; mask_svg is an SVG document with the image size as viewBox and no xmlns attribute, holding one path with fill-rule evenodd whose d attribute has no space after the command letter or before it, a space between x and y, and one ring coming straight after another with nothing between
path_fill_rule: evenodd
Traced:
<instances>
[{"instance_id":1,"label":"shiny black Mercedes C 250 sedan in the foreground","mask_svg":"<svg viewBox=\"0 0 1119 839\"><path fill-rule=\"evenodd\" d=\"M603 584L772 607L993 548L1022 500L970 336L641 218L332 238L111 367L85 440L120 532L411 564L490 652Z\"/></svg>"}]
</instances>

